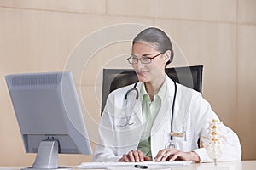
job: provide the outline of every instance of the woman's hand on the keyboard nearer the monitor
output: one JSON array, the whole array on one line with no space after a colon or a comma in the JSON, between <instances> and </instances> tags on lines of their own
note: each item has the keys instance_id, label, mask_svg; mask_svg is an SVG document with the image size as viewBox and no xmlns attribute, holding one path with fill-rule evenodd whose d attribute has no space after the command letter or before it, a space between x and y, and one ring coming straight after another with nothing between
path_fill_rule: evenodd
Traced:
<instances>
[{"instance_id":1,"label":"woman's hand on the keyboard nearer the monitor","mask_svg":"<svg viewBox=\"0 0 256 170\"><path fill-rule=\"evenodd\" d=\"M143 152L141 150L131 150L128 154L124 154L119 161L132 161L132 162L139 162L139 161L150 161L150 157L143 156Z\"/></svg>"}]
</instances>

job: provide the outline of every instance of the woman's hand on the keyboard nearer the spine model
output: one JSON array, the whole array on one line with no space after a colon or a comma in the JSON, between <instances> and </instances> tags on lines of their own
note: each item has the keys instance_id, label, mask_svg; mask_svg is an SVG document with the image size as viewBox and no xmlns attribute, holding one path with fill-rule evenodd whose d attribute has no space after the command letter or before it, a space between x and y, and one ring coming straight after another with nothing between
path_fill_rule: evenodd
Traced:
<instances>
[{"instance_id":1,"label":"woman's hand on the keyboard nearer the spine model","mask_svg":"<svg viewBox=\"0 0 256 170\"><path fill-rule=\"evenodd\" d=\"M175 148L160 150L154 161L195 161L200 162L200 157L193 151L183 152Z\"/></svg>"}]
</instances>

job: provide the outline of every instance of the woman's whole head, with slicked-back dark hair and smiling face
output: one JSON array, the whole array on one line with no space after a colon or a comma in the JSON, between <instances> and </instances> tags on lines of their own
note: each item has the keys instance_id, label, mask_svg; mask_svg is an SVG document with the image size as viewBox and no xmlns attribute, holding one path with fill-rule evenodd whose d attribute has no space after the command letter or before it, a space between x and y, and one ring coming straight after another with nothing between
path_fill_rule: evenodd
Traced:
<instances>
[{"instance_id":1,"label":"woman's whole head, with slicked-back dark hair and smiling face","mask_svg":"<svg viewBox=\"0 0 256 170\"><path fill-rule=\"evenodd\" d=\"M137 37L134 38L132 44L131 59L135 58L137 62L133 61L130 63L137 72L139 81L158 82L161 84L165 78L164 65L168 65L173 59L170 38L167 37L164 31L160 31L157 28L149 28L141 31ZM136 56L141 56L141 58ZM138 60L141 62L138 62ZM154 62L151 63L153 60ZM160 75L162 75L162 78L158 77ZM152 81L153 79L155 79L155 81ZM160 88L160 84L155 85L155 87ZM147 86L147 88L149 88L149 86ZM159 89L153 90L156 93L159 91ZM152 95L154 96L154 94ZM150 96L151 98L153 97L152 95Z\"/></svg>"}]
</instances>

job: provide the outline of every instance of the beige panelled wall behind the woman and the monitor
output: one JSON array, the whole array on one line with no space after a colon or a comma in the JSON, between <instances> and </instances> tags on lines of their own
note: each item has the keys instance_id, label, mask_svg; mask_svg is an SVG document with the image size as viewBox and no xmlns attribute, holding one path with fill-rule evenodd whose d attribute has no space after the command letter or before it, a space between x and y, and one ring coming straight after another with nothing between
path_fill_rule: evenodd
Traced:
<instances>
[{"instance_id":1,"label":"beige panelled wall behind the woman and the monitor","mask_svg":"<svg viewBox=\"0 0 256 170\"><path fill-rule=\"evenodd\" d=\"M31 165L34 159L23 148L4 76L62 71L82 38L121 23L160 27L183 50L187 65L204 65L204 97L239 135L243 159L255 160L256 1L1 0L0 166ZM99 50L84 65L81 94L92 120L86 123L93 148L100 114L102 68L127 67L123 58L113 56L129 52L130 43L114 44ZM179 63L174 60L173 65ZM60 163L74 165L90 159L91 156L63 155Z\"/></svg>"}]
</instances>

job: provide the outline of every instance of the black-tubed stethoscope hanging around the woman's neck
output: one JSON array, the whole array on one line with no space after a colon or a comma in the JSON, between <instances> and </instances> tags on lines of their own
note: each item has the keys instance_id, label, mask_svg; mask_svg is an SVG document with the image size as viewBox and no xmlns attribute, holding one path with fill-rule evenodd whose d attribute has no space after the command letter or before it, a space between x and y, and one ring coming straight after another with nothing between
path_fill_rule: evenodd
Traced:
<instances>
[{"instance_id":1,"label":"black-tubed stethoscope hanging around the woman's neck","mask_svg":"<svg viewBox=\"0 0 256 170\"><path fill-rule=\"evenodd\" d=\"M132 91L135 91L136 92L136 99L138 99L139 97L139 92L138 92L138 89L136 88L137 87L137 83L138 81L134 84L133 88L131 88L130 90L128 90L125 94L125 100L127 100L127 96L128 94L130 94ZM174 97L173 97L173 100L172 100L172 116L171 116L171 132L173 130L173 115L174 115L174 105L175 105L175 99L176 99L176 94L177 94L177 84L176 82L174 82ZM135 122L130 122L130 119L131 119L131 116L128 116L127 117L127 121L124 125L119 125L119 127L126 127L126 126L131 126L133 124L135 124ZM166 144L166 148L175 148L175 144L173 142L173 136L170 134L170 140L168 141L168 143Z\"/></svg>"}]
</instances>

